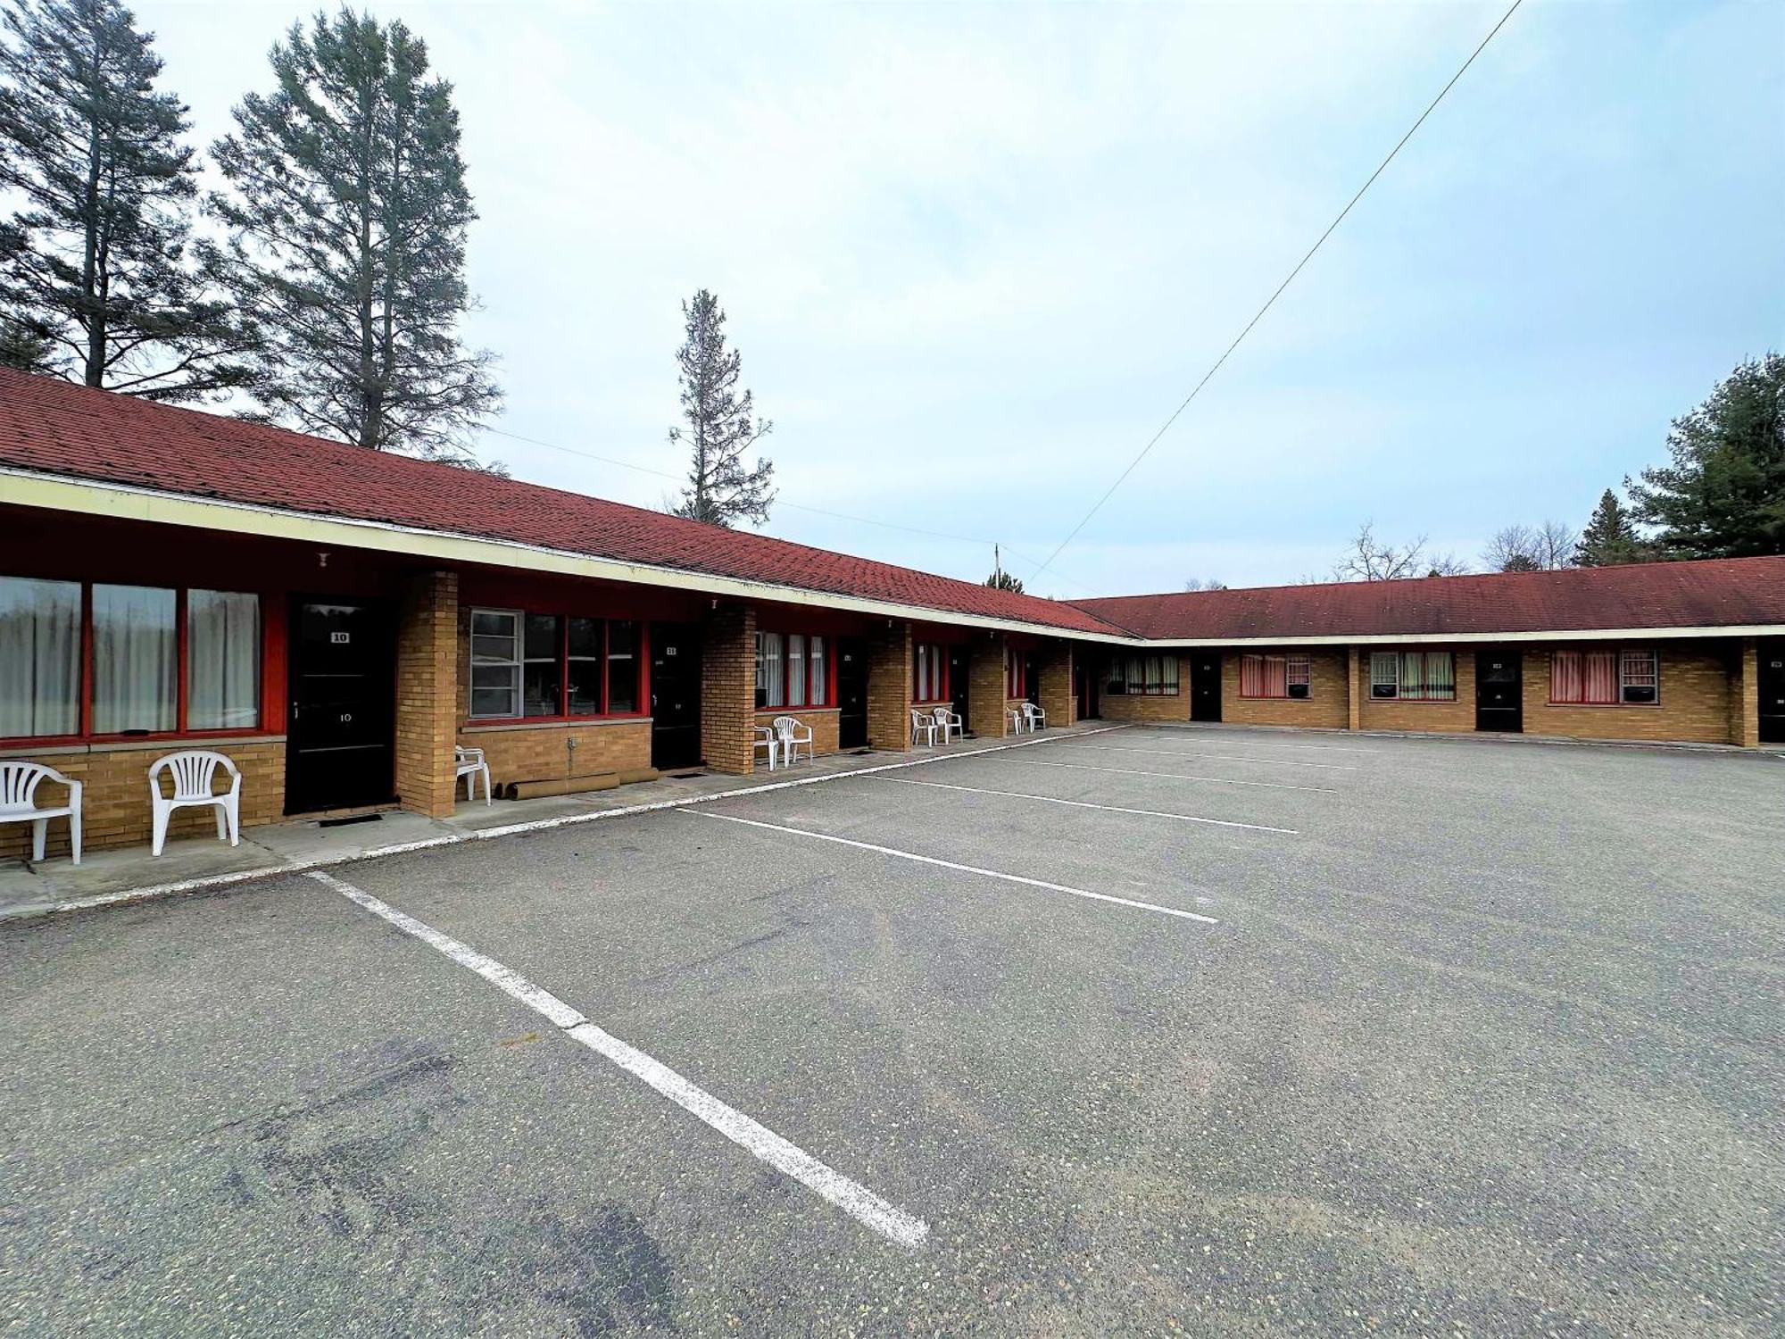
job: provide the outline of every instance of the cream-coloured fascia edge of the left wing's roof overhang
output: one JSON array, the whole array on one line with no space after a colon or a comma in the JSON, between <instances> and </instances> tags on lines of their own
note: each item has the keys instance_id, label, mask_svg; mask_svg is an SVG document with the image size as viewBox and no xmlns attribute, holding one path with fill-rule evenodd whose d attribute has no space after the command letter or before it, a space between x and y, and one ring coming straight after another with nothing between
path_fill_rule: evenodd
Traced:
<instances>
[{"instance_id":1,"label":"cream-coloured fascia edge of the left wing's roof overhang","mask_svg":"<svg viewBox=\"0 0 1785 1339\"><path fill-rule=\"evenodd\" d=\"M68 475L52 475L34 470L0 466L0 478L5 480L5 487L0 491L0 502L21 507L37 507L41 511L150 521L154 525L184 525L196 530L250 534L266 539L287 539L303 545L318 545L323 548L366 548L380 553L400 553L405 557L419 557L448 564L471 562L491 568L539 571L560 577L632 582L634 586L657 586L662 589L694 591L700 595L739 600L775 600L776 603L843 609L875 618L955 623L962 627L987 628L992 632L1028 632L1046 637L1067 637L1073 641L1132 646L1144 645L1139 637L1123 637L1116 632L1083 632L1076 628L1053 627L1050 623L1026 623L1021 620L989 618L985 614L960 614L951 609L930 609L926 605L907 605L891 600L869 600L851 595L835 595L830 591L810 591L800 586L780 586L775 582L757 582L741 577L719 577L685 568L623 562L618 559L593 557L589 553L573 553L539 545L523 545L509 539L489 539L486 536L455 534L448 530L425 530L419 527L394 525L389 521L364 521L346 516L318 516L314 512L261 507L241 502L221 502L216 498L195 498L186 493L164 493L159 489L71 478Z\"/></svg>"}]
</instances>

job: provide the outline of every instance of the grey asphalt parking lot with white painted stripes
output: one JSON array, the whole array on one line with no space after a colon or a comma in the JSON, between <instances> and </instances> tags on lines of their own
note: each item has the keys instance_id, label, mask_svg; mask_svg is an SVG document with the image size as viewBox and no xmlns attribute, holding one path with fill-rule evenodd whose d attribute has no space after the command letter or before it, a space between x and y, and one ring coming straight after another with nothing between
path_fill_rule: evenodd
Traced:
<instances>
[{"instance_id":1,"label":"grey asphalt parking lot with white painted stripes","mask_svg":"<svg viewBox=\"0 0 1785 1339\"><path fill-rule=\"evenodd\" d=\"M1785 759L1121 728L0 927L7 1334L1778 1334Z\"/></svg>"}]
</instances>

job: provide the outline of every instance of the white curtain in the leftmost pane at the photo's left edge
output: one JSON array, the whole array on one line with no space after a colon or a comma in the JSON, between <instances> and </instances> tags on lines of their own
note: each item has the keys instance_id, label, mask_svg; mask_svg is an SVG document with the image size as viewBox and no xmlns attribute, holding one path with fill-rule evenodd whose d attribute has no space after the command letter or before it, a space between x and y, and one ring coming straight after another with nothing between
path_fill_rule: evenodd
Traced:
<instances>
[{"instance_id":1,"label":"white curtain in the leftmost pane at the photo's left edge","mask_svg":"<svg viewBox=\"0 0 1785 1339\"><path fill-rule=\"evenodd\" d=\"M80 584L0 577L0 739L80 732Z\"/></svg>"}]
</instances>

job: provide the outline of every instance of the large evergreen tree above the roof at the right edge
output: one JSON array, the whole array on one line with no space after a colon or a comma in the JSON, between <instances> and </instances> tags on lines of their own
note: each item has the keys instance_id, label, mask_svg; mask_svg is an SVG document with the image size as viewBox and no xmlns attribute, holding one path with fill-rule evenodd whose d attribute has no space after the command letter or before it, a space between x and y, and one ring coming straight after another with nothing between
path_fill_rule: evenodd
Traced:
<instances>
[{"instance_id":1,"label":"large evergreen tree above the roof at the right edge","mask_svg":"<svg viewBox=\"0 0 1785 1339\"><path fill-rule=\"evenodd\" d=\"M1742 362L1667 434L1671 466L1626 480L1667 557L1785 553L1785 357Z\"/></svg>"}]
</instances>

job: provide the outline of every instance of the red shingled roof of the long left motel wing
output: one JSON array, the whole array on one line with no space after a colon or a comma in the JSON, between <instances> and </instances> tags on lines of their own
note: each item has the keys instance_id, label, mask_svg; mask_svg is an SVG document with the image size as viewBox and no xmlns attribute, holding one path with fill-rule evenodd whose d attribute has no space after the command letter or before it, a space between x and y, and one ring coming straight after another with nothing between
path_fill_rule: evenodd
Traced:
<instances>
[{"instance_id":1,"label":"red shingled roof of the long left motel wing","mask_svg":"<svg viewBox=\"0 0 1785 1339\"><path fill-rule=\"evenodd\" d=\"M4 368L0 466L477 534L944 614L1121 632L1069 603Z\"/></svg>"}]
</instances>

